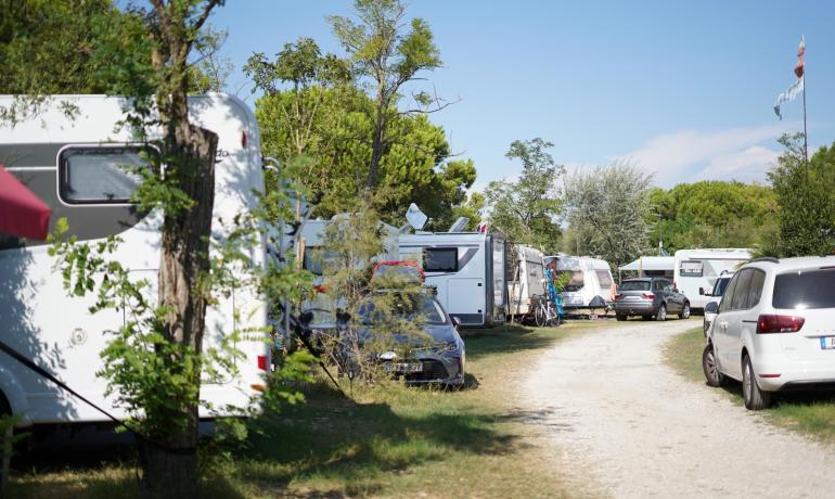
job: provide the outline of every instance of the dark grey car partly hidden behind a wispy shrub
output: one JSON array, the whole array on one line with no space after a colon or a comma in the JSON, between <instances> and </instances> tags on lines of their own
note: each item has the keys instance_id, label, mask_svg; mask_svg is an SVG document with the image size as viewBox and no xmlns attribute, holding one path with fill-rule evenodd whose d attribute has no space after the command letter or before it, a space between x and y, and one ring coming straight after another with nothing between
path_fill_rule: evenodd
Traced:
<instances>
[{"instance_id":1,"label":"dark grey car partly hidden behind a wispy shrub","mask_svg":"<svg viewBox=\"0 0 835 499\"><path fill-rule=\"evenodd\" d=\"M374 347L367 348L374 340L381 337L378 330L372 333L374 328L380 328L376 320L376 315L380 312L375 303L381 298L381 294L377 293L360 307L360 317L356 321L357 327L354 328L354 334L357 336L354 341L345 342L348 349L346 359L350 362L351 359L362 356L365 361L377 363L384 371L395 376L403 376L409 384L463 385L466 353L464 341L458 332L460 322L447 314L437 297L429 291L397 294L394 300L393 314L401 320L420 321L423 334L383 331L384 340L387 342L385 348L381 349L378 342L375 342L377 345ZM355 345L364 351L350 351ZM404 355L404 351L408 354Z\"/></svg>"}]
</instances>

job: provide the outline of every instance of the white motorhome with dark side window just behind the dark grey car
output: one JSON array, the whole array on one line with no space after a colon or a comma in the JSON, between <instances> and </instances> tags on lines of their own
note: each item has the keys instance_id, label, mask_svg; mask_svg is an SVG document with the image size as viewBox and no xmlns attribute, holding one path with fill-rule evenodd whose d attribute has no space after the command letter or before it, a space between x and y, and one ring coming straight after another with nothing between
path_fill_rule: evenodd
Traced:
<instances>
[{"instance_id":1,"label":"white motorhome with dark side window just behind the dark grey car","mask_svg":"<svg viewBox=\"0 0 835 499\"><path fill-rule=\"evenodd\" d=\"M506 308L504 238L480 232L400 234L400 260L421 264L426 285L463 327L504 322Z\"/></svg>"}]
</instances>

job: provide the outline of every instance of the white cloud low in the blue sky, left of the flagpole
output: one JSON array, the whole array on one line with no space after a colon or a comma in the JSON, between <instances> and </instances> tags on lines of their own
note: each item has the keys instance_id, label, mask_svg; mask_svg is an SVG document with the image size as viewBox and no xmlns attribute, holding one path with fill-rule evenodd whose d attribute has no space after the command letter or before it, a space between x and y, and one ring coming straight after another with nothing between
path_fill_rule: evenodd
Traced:
<instances>
[{"instance_id":1,"label":"white cloud low in the blue sky, left of the flagpole","mask_svg":"<svg viewBox=\"0 0 835 499\"><path fill-rule=\"evenodd\" d=\"M763 181L780 152L762 143L774 143L783 132L796 128L796 124L782 123L711 132L664 133L614 159L628 161L654 172L655 183L660 187L706 179Z\"/></svg>"}]
</instances>

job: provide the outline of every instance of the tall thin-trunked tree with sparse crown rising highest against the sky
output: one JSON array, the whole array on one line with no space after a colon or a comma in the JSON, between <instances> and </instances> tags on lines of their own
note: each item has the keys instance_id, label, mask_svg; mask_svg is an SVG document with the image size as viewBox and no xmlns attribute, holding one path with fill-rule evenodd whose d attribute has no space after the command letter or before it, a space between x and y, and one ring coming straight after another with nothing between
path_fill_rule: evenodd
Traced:
<instances>
[{"instance_id":1,"label":"tall thin-trunked tree with sparse crown rising highest against the sky","mask_svg":"<svg viewBox=\"0 0 835 499\"><path fill-rule=\"evenodd\" d=\"M375 189L383 155L390 146L388 128L398 115L439 111L446 104L426 92L413 93L419 108L398 111L400 91L416 75L441 65L432 30L422 18L413 18L403 33L406 7L400 0L355 0L357 22L330 16L333 31L348 53L355 74L373 87L371 157L367 187ZM434 110L429 107L435 105Z\"/></svg>"}]
</instances>

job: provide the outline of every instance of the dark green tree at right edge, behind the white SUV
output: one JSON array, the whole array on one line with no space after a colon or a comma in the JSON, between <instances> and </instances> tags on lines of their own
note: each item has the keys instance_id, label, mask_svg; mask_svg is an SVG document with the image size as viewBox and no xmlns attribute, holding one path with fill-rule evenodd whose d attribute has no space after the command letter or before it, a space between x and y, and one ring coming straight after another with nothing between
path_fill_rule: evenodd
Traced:
<instances>
[{"instance_id":1,"label":"dark green tree at right edge, behind the white SUV","mask_svg":"<svg viewBox=\"0 0 835 499\"><path fill-rule=\"evenodd\" d=\"M785 152L769 180L780 205L778 256L831 255L835 251L835 144L805 161L802 135L783 136Z\"/></svg>"}]
</instances>

